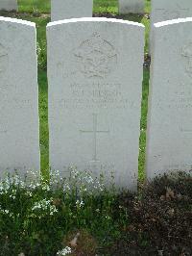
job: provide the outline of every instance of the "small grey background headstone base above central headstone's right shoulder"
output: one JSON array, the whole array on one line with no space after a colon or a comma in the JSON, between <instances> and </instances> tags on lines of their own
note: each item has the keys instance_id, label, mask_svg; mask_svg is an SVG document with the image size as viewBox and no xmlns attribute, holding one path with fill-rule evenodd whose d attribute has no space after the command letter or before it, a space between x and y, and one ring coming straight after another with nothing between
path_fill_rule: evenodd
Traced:
<instances>
[{"instance_id":1,"label":"small grey background headstone base above central headstone's right shoulder","mask_svg":"<svg viewBox=\"0 0 192 256\"><path fill-rule=\"evenodd\" d=\"M119 13L144 13L145 3L144 0L118 0Z\"/></svg>"}]
</instances>

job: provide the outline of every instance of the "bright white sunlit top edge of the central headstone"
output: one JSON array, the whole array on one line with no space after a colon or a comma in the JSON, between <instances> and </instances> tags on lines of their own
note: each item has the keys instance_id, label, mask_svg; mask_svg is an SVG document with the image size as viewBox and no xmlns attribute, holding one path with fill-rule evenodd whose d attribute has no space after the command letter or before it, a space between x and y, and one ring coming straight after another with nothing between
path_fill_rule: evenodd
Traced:
<instances>
[{"instance_id":1,"label":"bright white sunlit top edge of the central headstone","mask_svg":"<svg viewBox=\"0 0 192 256\"><path fill-rule=\"evenodd\" d=\"M145 28L145 26L138 22L123 20L123 19L116 19L116 18L106 18L106 17L82 17L82 18L70 18L70 19L63 19L59 21L53 21L49 22L47 24L47 28L58 26L62 24L68 24L68 23L77 23L77 22L110 22L110 23L122 23L132 26L137 26L141 28Z\"/></svg>"}]
</instances>

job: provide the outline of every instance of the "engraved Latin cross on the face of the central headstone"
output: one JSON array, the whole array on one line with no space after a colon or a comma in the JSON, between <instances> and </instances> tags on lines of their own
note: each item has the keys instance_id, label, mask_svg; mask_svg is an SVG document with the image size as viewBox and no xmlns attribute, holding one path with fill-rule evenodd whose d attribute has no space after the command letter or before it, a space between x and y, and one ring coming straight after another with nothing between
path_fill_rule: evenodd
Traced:
<instances>
[{"instance_id":1,"label":"engraved Latin cross on the face of the central headstone","mask_svg":"<svg viewBox=\"0 0 192 256\"><path fill-rule=\"evenodd\" d=\"M81 133L91 133L93 134L93 158L92 161L98 161L97 159L97 134L101 133L109 133L108 130L102 131L98 130L98 121L97 121L97 114L93 114L93 129L88 131L88 130L80 130Z\"/></svg>"}]
</instances>

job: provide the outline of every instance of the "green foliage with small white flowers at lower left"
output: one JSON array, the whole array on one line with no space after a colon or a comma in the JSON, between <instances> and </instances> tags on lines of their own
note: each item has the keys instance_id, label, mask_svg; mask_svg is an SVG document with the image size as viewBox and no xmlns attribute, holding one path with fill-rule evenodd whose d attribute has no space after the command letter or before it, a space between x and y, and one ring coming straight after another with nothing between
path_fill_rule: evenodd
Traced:
<instances>
[{"instance_id":1,"label":"green foliage with small white flowers at lower left","mask_svg":"<svg viewBox=\"0 0 192 256\"><path fill-rule=\"evenodd\" d=\"M116 208L112 184L107 190L102 176L93 178L75 167L69 173L60 179L59 171L51 171L49 182L35 172L24 181L17 174L1 181L0 255L62 255L67 236L77 231L84 235L85 230L85 238L94 234L101 244L118 238L128 216Z\"/></svg>"}]
</instances>

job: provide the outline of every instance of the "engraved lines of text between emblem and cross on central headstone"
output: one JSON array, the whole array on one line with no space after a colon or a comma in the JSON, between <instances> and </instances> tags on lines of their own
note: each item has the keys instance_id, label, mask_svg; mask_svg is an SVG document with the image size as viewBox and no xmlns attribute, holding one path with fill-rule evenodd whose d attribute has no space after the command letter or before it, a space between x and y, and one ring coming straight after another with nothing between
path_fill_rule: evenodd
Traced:
<instances>
[{"instance_id":1,"label":"engraved lines of text between emblem and cross on central headstone","mask_svg":"<svg viewBox=\"0 0 192 256\"><path fill-rule=\"evenodd\" d=\"M119 83L71 83L60 104L64 109L127 109L133 102Z\"/></svg>"}]
</instances>

